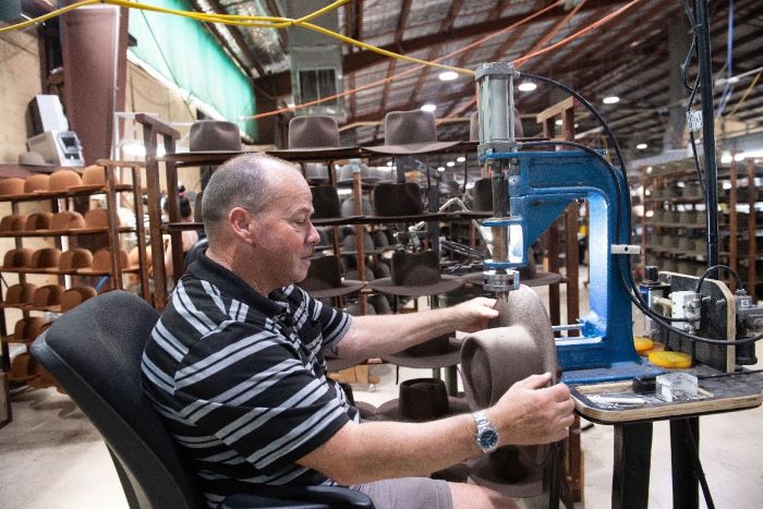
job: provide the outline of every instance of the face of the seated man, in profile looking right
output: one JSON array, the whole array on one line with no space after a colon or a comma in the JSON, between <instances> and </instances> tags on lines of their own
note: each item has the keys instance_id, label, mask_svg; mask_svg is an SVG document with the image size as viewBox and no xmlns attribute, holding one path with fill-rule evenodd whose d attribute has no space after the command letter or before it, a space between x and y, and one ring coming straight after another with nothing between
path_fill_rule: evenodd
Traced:
<instances>
[{"instance_id":1,"label":"face of the seated man, in profile looking right","mask_svg":"<svg viewBox=\"0 0 763 509\"><path fill-rule=\"evenodd\" d=\"M296 172L284 172L274 190L270 206L261 213L255 249L256 272L267 281L269 291L302 281L307 276L315 244L320 240L310 221L313 195Z\"/></svg>"}]
</instances>

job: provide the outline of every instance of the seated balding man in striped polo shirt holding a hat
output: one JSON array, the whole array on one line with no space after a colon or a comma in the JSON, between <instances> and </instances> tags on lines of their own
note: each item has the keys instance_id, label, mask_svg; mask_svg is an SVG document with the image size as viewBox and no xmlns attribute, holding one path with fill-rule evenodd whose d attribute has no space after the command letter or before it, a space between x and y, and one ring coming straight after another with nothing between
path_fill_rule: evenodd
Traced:
<instances>
[{"instance_id":1,"label":"seated balding man in striped polo shirt holding a hat","mask_svg":"<svg viewBox=\"0 0 763 509\"><path fill-rule=\"evenodd\" d=\"M146 347L145 390L209 504L256 484L338 483L379 509L513 507L475 485L426 478L481 452L474 416L360 424L324 361L325 351L361 360L483 329L495 302L363 317L323 305L293 284L319 239L311 211L293 166L259 155L222 165L204 192L207 253L179 281ZM573 404L567 387L545 387L549 380L520 381L485 411L497 445L566 436Z\"/></svg>"}]
</instances>

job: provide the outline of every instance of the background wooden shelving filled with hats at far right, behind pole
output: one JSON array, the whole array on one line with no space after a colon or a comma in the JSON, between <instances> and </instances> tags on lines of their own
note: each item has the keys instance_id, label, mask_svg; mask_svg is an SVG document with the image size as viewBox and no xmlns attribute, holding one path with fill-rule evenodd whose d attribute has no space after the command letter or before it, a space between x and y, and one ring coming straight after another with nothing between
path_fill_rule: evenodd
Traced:
<instances>
[{"instance_id":1,"label":"background wooden shelving filled with hats at far right, behind pole","mask_svg":"<svg viewBox=\"0 0 763 509\"><path fill-rule=\"evenodd\" d=\"M719 262L737 270L750 294L761 295L763 278L763 193L755 180L763 167L752 160L718 165ZM641 225L645 265L701 275L707 265L706 210L694 162L681 159L641 168ZM759 240L761 239L761 240ZM729 279L729 284L734 284Z\"/></svg>"}]
</instances>

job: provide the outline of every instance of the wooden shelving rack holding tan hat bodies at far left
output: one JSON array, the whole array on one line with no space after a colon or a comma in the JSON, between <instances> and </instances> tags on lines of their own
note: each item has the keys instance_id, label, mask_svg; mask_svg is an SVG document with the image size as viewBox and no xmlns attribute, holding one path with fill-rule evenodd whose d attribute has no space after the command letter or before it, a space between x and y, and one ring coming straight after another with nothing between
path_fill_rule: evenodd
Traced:
<instances>
[{"instance_id":1,"label":"wooden shelving rack holding tan hat bodies at far left","mask_svg":"<svg viewBox=\"0 0 763 509\"><path fill-rule=\"evenodd\" d=\"M133 163L134 165L134 163ZM113 172L113 167L111 166L105 166L105 179L106 182L102 186L90 186L87 190L76 190L76 191L60 191L60 192L43 192L38 194L26 194L26 195L13 195L13 196L0 196L0 201L7 202L11 204L11 214L12 215L17 215L20 211L20 204L25 203L25 202L49 202L51 205L51 210L52 213L59 213L59 211L65 211L70 210L73 208L73 202L74 198L77 197L89 197L94 194L105 194L106 195L106 217L108 219L108 223L106 227L102 228L88 228L88 229L83 229L83 228L64 228L64 229L45 229L45 230L22 230L22 231L3 231L0 232L1 238L11 238L14 240L15 249L21 250L24 247L24 240L25 239L33 239L33 238L50 238L52 239L52 247L44 247L39 250L40 252L43 251L48 251L47 254L51 254L55 256L56 253L60 253L61 250L64 247L73 247L69 246L70 241L74 241L73 244L76 244L77 241L76 239L80 239L84 235L108 235L108 247L107 254L109 256L109 265L111 267L110 270L89 270L87 274L83 271L81 268L73 267L71 269L61 269L60 267L57 268L51 268L49 266L46 267L19 267L19 268L9 268L4 267L0 270L3 275L10 275L14 274L15 278L17 280L16 284L20 286L26 286L27 284L27 276L29 275L44 275L44 276L52 276L56 278L58 281L58 284L51 286L50 292L52 293L58 293L61 291L60 295L61 296L61 304L60 305L45 305L45 306L36 306L32 302L9 302L8 301L8 290L5 291L5 294L3 296L3 305L0 308L0 336L2 337L1 342L2 342L2 371L3 372L10 372L11 371L11 363L10 363L10 349L9 344L10 343L21 343L24 344L25 347L28 347L32 341L35 339L35 337L45 330L45 328L48 325L48 317L49 313L58 314L61 313L61 310L64 308L64 295L65 291L68 290L71 292L74 292L74 289L87 289L85 290L76 290L81 295L72 295L75 299L73 300L73 304L76 305L78 302L77 299L86 299L89 298L94 294L97 293L97 291L88 286L81 286L81 284L75 284L78 283L78 278L83 277L109 277L110 278L110 287L108 289L121 289L122 288L122 275L126 271L138 271L143 272L142 267L144 266L143 264L140 264L138 267L135 268L128 268L122 265L122 259L121 259L121 243L120 243L120 234L121 233L128 233L128 232L134 232L136 231L135 228L131 227L120 227L119 225L119 218L118 218L118 193L122 192L132 192L133 193L133 199L135 201L136 205L136 211L138 214L142 214L142 195L141 195L141 185L140 185L140 173L137 172L137 167L133 166L133 183L132 184L117 184L116 179L114 179L114 172ZM141 217L141 216L138 216ZM140 221L137 221L140 225ZM141 231L140 227L137 229ZM76 279L75 279L76 278ZM48 287L48 284L44 286ZM27 287L32 289L33 287L29 286ZM58 290L61 289L61 290ZM47 291L47 290L46 290ZM144 288L144 293L147 291L147 288ZM31 295L26 295L27 298ZM22 337L16 337L16 330L19 327L14 326L14 334L9 334L10 327L7 324L8 315L5 313L5 310L11 310L11 308L17 308L22 313L22 320L24 325L21 326L22 330ZM65 310L64 310L65 311ZM33 316L32 313L45 313L46 315L43 316ZM32 326L34 325L34 327ZM28 326L28 327L27 327ZM26 336L27 330L26 329L34 329L34 335ZM28 353L24 353L23 355L28 355ZM28 359L28 361L25 361L25 359ZM34 365L34 361L31 357L22 357L20 362L28 362L28 365L32 366ZM28 376L25 377L24 379L14 379L10 377L9 379L11 383L29 383L34 384L35 386L38 387L45 387L45 386L50 386L55 385L55 380L49 377L49 375L46 375L43 371L38 371L36 376Z\"/></svg>"}]
</instances>

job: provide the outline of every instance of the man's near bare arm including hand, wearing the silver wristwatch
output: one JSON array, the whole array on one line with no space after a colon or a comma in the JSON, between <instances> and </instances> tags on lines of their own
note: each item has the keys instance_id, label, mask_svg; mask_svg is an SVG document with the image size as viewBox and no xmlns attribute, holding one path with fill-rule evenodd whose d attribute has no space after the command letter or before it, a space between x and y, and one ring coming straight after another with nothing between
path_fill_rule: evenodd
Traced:
<instances>
[{"instance_id":1,"label":"man's near bare arm including hand, wearing the silver wristwatch","mask_svg":"<svg viewBox=\"0 0 763 509\"><path fill-rule=\"evenodd\" d=\"M544 388L550 374L514 384L485 412L499 446L547 444L567 436L574 403L567 386ZM429 423L347 423L298 463L340 484L429 475L481 452L470 414Z\"/></svg>"}]
</instances>

